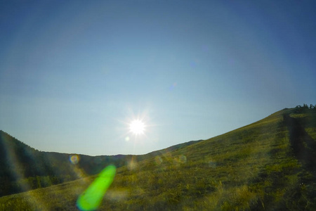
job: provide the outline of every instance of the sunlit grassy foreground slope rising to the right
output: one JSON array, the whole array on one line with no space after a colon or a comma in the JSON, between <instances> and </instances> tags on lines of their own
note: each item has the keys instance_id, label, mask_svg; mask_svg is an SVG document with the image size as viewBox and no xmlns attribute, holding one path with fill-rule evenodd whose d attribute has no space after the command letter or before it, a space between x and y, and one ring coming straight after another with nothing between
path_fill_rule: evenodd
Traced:
<instances>
[{"instance_id":1,"label":"sunlit grassy foreground slope rising to the right","mask_svg":"<svg viewBox=\"0 0 316 211\"><path fill-rule=\"evenodd\" d=\"M117 169L100 210L316 210L316 112L284 109ZM0 198L0 210L77 210L95 176Z\"/></svg>"}]
</instances>

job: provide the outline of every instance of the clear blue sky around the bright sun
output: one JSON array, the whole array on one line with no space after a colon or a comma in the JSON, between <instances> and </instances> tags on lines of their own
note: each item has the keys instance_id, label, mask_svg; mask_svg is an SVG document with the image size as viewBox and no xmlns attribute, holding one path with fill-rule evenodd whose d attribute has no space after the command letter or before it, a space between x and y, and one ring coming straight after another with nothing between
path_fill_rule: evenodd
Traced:
<instances>
[{"instance_id":1,"label":"clear blue sky around the bright sun","mask_svg":"<svg viewBox=\"0 0 316 211\"><path fill-rule=\"evenodd\" d=\"M0 129L39 151L139 155L315 105L315 11L291 0L0 1Z\"/></svg>"}]
</instances>

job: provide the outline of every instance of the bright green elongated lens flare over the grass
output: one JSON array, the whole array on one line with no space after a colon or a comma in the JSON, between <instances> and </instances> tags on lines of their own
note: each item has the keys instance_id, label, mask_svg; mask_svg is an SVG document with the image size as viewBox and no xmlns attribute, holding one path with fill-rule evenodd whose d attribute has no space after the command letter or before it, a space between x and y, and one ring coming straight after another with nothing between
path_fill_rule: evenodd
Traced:
<instances>
[{"instance_id":1,"label":"bright green elongated lens flare over the grass","mask_svg":"<svg viewBox=\"0 0 316 211\"><path fill-rule=\"evenodd\" d=\"M114 165L109 165L100 172L97 179L79 196L77 200L79 210L96 210L99 207L107 188L112 184L115 172Z\"/></svg>"}]
</instances>

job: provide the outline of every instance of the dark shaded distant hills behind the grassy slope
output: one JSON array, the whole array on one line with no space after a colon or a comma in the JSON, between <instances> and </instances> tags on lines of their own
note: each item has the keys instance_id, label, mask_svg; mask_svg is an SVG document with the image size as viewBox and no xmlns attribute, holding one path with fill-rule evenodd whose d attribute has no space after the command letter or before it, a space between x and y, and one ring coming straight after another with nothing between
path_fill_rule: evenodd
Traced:
<instances>
[{"instance_id":1,"label":"dark shaded distant hills behind the grassy slope","mask_svg":"<svg viewBox=\"0 0 316 211\"><path fill-rule=\"evenodd\" d=\"M180 143L145 155L90 156L38 151L0 130L0 196L98 174L110 164L122 167L131 160L140 162L195 142L197 141ZM78 163L71 162L73 155L76 156Z\"/></svg>"}]
</instances>

